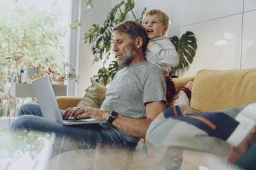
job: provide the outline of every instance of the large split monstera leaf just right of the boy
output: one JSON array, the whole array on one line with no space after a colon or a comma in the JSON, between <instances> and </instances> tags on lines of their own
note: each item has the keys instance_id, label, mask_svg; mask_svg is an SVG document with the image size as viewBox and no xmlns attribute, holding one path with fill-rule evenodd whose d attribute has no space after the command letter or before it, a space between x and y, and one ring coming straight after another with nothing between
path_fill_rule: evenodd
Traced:
<instances>
[{"instance_id":1,"label":"large split monstera leaf just right of the boy","mask_svg":"<svg viewBox=\"0 0 256 170\"><path fill-rule=\"evenodd\" d=\"M170 75L173 75L178 69L184 69L193 62L198 46L193 32L186 32L180 39L177 36L173 36L169 40L173 43L180 58L178 66L173 67L170 72Z\"/></svg>"}]
</instances>

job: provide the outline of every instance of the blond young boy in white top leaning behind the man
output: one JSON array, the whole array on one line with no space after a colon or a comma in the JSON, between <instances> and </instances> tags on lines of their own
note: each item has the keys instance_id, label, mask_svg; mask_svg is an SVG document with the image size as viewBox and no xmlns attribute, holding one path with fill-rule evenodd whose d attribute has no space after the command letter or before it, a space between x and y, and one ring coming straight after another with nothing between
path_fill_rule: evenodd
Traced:
<instances>
[{"instance_id":1,"label":"blond young boy in white top leaning behind the man","mask_svg":"<svg viewBox=\"0 0 256 170\"><path fill-rule=\"evenodd\" d=\"M178 95L175 95L175 85L169 77L171 67L177 66L179 63L178 53L171 41L164 37L169 27L169 16L160 10L150 10L146 12L142 25L147 31L149 44L147 45L146 58L147 61L159 66L167 79L167 102L184 104L189 106L189 98L191 97L191 89L193 83L189 82L186 87L182 88Z\"/></svg>"}]
</instances>

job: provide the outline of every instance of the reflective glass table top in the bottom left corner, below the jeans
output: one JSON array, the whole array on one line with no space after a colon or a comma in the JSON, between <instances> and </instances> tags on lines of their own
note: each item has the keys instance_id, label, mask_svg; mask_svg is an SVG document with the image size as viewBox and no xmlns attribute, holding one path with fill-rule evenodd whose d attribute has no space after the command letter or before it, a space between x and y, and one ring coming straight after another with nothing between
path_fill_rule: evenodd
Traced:
<instances>
[{"instance_id":1,"label":"reflective glass table top in the bottom left corner, below the jeans","mask_svg":"<svg viewBox=\"0 0 256 170\"><path fill-rule=\"evenodd\" d=\"M54 134L0 129L1 169L47 169Z\"/></svg>"}]
</instances>

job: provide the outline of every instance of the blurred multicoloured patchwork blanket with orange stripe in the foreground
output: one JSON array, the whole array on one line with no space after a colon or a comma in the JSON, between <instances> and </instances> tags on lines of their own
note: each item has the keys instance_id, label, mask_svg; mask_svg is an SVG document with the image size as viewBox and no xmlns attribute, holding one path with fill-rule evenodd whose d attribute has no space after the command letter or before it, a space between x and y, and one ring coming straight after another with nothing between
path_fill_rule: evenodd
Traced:
<instances>
[{"instance_id":1,"label":"blurred multicoloured patchwork blanket with orange stripe in the foreground","mask_svg":"<svg viewBox=\"0 0 256 170\"><path fill-rule=\"evenodd\" d=\"M158 161L166 162L169 157L180 166L183 151L191 150L235 163L256 141L256 104L195 112L192 108L173 106L153 120L146 141L158 153Z\"/></svg>"}]
</instances>

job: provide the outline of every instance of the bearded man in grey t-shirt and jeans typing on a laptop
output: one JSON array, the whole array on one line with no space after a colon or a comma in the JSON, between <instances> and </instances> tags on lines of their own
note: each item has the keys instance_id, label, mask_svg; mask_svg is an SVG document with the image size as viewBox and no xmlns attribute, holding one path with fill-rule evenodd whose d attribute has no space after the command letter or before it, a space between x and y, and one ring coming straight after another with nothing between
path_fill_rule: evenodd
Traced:
<instances>
[{"instance_id":1,"label":"bearded man in grey t-shirt and jeans typing on a laptop","mask_svg":"<svg viewBox=\"0 0 256 170\"><path fill-rule=\"evenodd\" d=\"M100 109L69 108L62 114L63 119L92 117L109 123L65 126L46 121L38 104L25 104L19 110L23 116L12 123L12 128L56 132L100 145L136 147L139 138L145 138L151 121L166 108L164 75L158 67L145 61L147 43L145 29L134 21L115 27L112 50L125 68L109 84L103 105Z\"/></svg>"}]
</instances>

